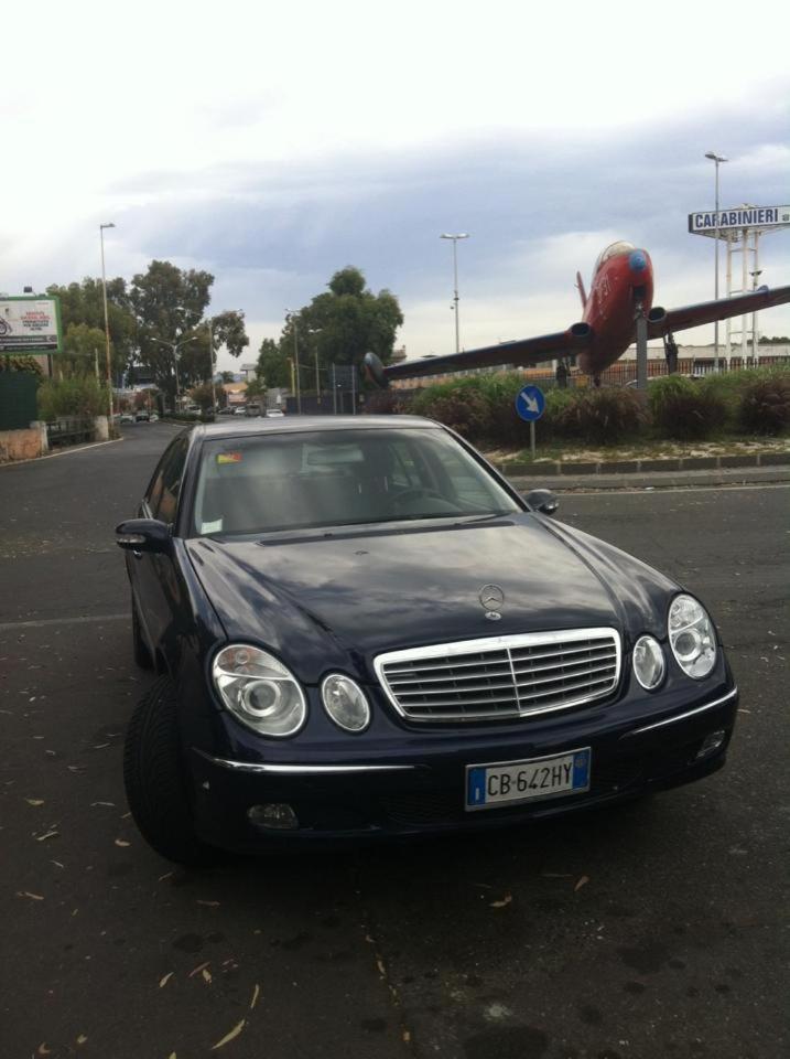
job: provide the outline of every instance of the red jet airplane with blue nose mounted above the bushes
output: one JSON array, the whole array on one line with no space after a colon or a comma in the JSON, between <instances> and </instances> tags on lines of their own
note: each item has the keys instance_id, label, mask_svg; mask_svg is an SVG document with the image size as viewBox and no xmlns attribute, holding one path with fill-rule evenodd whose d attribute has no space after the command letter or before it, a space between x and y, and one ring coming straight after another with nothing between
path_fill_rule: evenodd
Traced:
<instances>
[{"instance_id":1,"label":"red jet airplane with blue nose mounted above the bushes","mask_svg":"<svg viewBox=\"0 0 790 1059\"><path fill-rule=\"evenodd\" d=\"M465 350L447 356L431 356L383 367L375 354L366 357L369 376L380 386L392 378L413 378L421 375L441 375L470 367L494 367L512 364L518 367L543 361L575 357L578 367L592 375L596 384L600 373L621 356L636 338L636 321L640 313L647 318L649 339L662 338L668 360L674 354L675 331L696 328L728 317L759 312L771 306L790 301L790 287L769 290L760 287L745 295L702 301L682 309L653 308L653 269L650 255L630 243L613 243L595 263L589 295L585 293L582 277L576 272L576 286L582 298L580 323L556 334L534 339L500 342L479 350Z\"/></svg>"}]
</instances>

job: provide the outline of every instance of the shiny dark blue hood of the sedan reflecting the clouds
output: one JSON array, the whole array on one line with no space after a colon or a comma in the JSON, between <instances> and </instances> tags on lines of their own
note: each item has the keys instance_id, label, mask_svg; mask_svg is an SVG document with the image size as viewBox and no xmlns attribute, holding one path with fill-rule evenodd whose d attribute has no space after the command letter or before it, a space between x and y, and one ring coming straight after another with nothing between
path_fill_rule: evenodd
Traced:
<instances>
[{"instance_id":1,"label":"shiny dark blue hood of the sedan reflecting the clouds","mask_svg":"<svg viewBox=\"0 0 790 1059\"><path fill-rule=\"evenodd\" d=\"M204 537L187 550L228 638L269 646L306 683L336 665L372 680L372 659L401 648L597 625L624 632L635 614L643 627L654 623L665 582L603 542L528 513L255 542ZM486 619L486 585L505 593L500 620Z\"/></svg>"}]
</instances>

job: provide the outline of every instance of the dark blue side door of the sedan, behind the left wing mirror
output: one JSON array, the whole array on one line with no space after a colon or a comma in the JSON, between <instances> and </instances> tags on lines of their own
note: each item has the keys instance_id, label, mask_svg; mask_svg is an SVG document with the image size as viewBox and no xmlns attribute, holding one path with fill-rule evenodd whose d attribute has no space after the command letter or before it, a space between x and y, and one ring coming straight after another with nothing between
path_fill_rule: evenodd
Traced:
<instances>
[{"instance_id":1,"label":"dark blue side door of the sedan, behind the left wing mirror","mask_svg":"<svg viewBox=\"0 0 790 1059\"><path fill-rule=\"evenodd\" d=\"M188 435L177 437L165 450L145 494L141 515L175 525ZM143 637L153 653L164 642L177 613L180 579L171 555L130 553L130 580Z\"/></svg>"}]
</instances>

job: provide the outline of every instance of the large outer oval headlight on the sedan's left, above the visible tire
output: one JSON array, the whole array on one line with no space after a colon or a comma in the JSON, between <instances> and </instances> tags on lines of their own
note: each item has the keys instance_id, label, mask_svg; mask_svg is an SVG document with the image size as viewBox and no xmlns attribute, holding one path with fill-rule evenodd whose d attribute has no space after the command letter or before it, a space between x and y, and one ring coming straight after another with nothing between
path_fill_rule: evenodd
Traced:
<instances>
[{"instance_id":1,"label":"large outer oval headlight on the sedan's left, above the visible tire","mask_svg":"<svg viewBox=\"0 0 790 1059\"><path fill-rule=\"evenodd\" d=\"M307 717L304 692L293 673L260 648L223 648L212 676L230 713L261 736L292 736Z\"/></svg>"}]
</instances>

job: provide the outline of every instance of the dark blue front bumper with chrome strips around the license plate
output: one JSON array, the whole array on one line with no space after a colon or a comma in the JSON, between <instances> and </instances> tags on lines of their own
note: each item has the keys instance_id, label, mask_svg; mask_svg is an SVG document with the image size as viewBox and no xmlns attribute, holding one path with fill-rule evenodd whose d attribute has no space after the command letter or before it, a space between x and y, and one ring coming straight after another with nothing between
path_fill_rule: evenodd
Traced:
<instances>
[{"instance_id":1,"label":"dark blue front bumper with chrome strips around the license plate","mask_svg":"<svg viewBox=\"0 0 790 1059\"><path fill-rule=\"evenodd\" d=\"M591 730L580 714L507 744L459 740L408 755L374 760L306 762L249 761L193 748L188 758L197 834L213 845L256 852L275 845L299 846L343 838L380 838L479 831L531 819L592 809L702 779L722 768L733 732L737 688L675 710L642 717L626 726ZM700 756L703 741L724 731L721 746ZM465 810L467 764L512 761L592 749L591 788L544 801ZM294 830L253 824L248 810L286 803L299 821Z\"/></svg>"}]
</instances>

